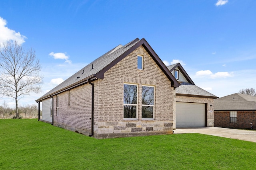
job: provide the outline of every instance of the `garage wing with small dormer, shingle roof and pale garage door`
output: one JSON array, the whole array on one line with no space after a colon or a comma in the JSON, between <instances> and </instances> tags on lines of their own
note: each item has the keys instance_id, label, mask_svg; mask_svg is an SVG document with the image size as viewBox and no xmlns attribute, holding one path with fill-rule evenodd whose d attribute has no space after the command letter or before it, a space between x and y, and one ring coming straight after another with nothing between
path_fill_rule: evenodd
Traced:
<instances>
[{"instance_id":1,"label":"garage wing with small dormer, shingle roof and pale garage door","mask_svg":"<svg viewBox=\"0 0 256 170\"><path fill-rule=\"evenodd\" d=\"M167 68L180 82L176 88L173 128L213 127L213 101L218 97L196 86L180 63Z\"/></svg>"}]
</instances>

